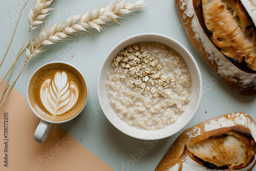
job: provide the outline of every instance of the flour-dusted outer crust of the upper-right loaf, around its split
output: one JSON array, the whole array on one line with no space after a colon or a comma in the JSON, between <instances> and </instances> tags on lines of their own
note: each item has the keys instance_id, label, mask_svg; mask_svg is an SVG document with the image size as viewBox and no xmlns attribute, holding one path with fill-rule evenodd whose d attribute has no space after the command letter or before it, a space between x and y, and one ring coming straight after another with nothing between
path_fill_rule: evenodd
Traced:
<instances>
[{"instance_id":1,"label":"flour-dusted outer crust of the upper-right loaf, around its split","mask_svg":"<svg viewBox=\"0 0 256 171\"><path fill-rule=\"evenodd\" d=\"M175 1L191 44L193 44L207 64L237 93L246 96L255 95L255 74L238 69L216 48L205 34L206 32L200 24L202 20L199 16L200 12L196 11L195 8L198 6L198 1L200 2L201 0ZM250 3L249 0L241 0L241 2L246 7L250 16L253 16L252 20L255 20L254 23L256 23L255 5L252 2ZM181 6L183 9L181 9ZM186 12L188 9L191 10L189 13ZM191 12L193 12L194 15L191 15Z\"/></svg>"}]
</instances>

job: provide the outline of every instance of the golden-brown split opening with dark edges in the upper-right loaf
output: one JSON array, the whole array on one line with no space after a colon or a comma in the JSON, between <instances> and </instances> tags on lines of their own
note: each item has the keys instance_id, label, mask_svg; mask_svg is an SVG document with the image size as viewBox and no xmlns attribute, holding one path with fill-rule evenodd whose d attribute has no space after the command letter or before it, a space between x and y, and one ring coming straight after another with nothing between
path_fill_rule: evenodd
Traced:
<instances>
[{"instance_id":1,"label":"golden-brown split opening with dark edges in the upper-right loaf","mask_svg":"<svg viewBox=\"0 0 256 171\"><path fill-rule=\"evenodd\" d=\"M250 17L241 9L242 5L239 3L233 5L233 0L198 1L200 5L199 3L194 4L195 11L198 11L196 14L198 18L201 18L199 19L201 27L212 44L215 45L215 48L224 56L229 57L228 59L235 59L232 63L240 70L256 73L252 72L252 69L256 69L256 53L253 50L255 46L255 26L252 22L248 22ZM204 2L203 5L202 2ZM244 19L241 20L240 16L242 18L247 17L246 22ZM244 62L241 62L243 56L246 57L246 62L249 63L248 66L247 63L244 65Z\"/></svg>"}]
</instances>

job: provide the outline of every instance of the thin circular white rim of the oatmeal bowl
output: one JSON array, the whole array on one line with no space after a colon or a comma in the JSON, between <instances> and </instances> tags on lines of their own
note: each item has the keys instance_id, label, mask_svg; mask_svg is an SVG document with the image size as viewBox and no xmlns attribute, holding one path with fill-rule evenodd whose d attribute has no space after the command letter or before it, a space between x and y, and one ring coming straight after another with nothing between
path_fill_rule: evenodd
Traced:
<instances>
[{"instance_id":1,"label":"thin circular white rim of the oatmeal bowl","mask_svg":"<svg viewBox=\"0 0 256 171\"><path fill-rule=\"evenodd\" d=\"M195 109L193 111L193 113L190 115L190 117L186 120L186 122L179 127L179 129L177 129L175 132L172 132L170 134L164 134L160 137L143 137L143 136L136 136L136 135L133 135L129 132L126 132L124 130L122 130L112 119L111 117L107 114L107 111L104 110L104 108L102 108L103 104L101 103L101 97L100 97L100 86L99 86L99 81L100 81L100 76L101 76L101 72L102 72L102 69L103 69L103 66L105 64L105 61L109 58L110 54L117 48L119 47L123 42L127 41L127 40L130 40L132 38L135 38L135 37L139 37L139 36L146 36L146 35L153 35L153 36L160 36L160 37L164 37L164 38L167 38L173 42L175 42L178 46L180 46L186 53L187 55L190 57L190 59L193 61L194 63L194 67L196 68L197 70L197 75L198 75L198 78L199 78L199 97L198 97L198 101L197 101L197 104L195 106ZM98 95L98 101L99 101L99 104L101 106L101 110L102 112L104 113L105 117L111 122L112 125L114 125L116 127L116 129L118 129L119 131L121 131L122 133L126 134L126 135L129 135L131 137L134 137L134 138L137 138L137 139L142 139L142 140L158 140L158 139L163 139L163 138L167 138L167 137L170 137L174 134L176 134L177 132L179 132L180 130L182 130L187 124L188 122L190 122L190 120L195 116L197 110L198 110L198 107L199 107L199 104L200 104L200 101L201 101L201 98L202 98L202 76L201 76L201 72L200 72L200 69L198 67L198 64L195 60L195 58L193 57L193 55L191 55L191 53L179 42L177 41L176 39L172 38L172 37L169 37L169 36L166 36L166 35L163 35L163 34L159 34L159 33L139 33L139 34L135 34L135 35L132 35L132 36L129 36L121 41L118 42L118 44L116 44L110 51L109 53L105 56L104 60L102 61L102 64L100 66L100 70L99 70L99 73L98 73L98 79L97 79L97 95ZM121 119L120 119L121 120ZM168 127L168 126L166 126ZM160 129L158 131L161 131L161 130L164 130L166 127L164 127L163 129ZM140 130L140 129L138 129ZM141 131L147 131L147 130L141 130ZM157 130L153 130L153 131L157 131Z\"/></svg>"}]
</instances>

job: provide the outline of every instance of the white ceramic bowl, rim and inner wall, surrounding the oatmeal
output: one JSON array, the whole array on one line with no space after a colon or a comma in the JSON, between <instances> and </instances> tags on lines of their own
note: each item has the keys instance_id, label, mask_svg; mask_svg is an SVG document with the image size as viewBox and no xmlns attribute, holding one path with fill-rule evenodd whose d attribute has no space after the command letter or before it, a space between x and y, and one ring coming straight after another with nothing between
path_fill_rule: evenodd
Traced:
<instances>
[{"instance_id":1,"label":"white ceramic bowl, rim and inner wall, surrounding the oatmeal","mask_svg":"<svg viewBox=\"0 0 256 171\"><path fill-rule=\"evenodd\" d=\"M178 52L187 63L191 75L192 92L191 100L187 105L184 113L172 125L166 126L160 130L148 131L140 130L135 127L129 126L127 123L119 119L114 109L110 105L106 97L106 73L112 66L112 61L116 55L125 47L136 44L141 41L156 41L173 48ZM97 92L99 104L106 118L121 132L134 138L143 140L156 140L169 137L179 132L195 115L202 96L202 78L198 65L194 57L189 51L181 45L178 41L165 35L156 33L142 33L128 37L119 42L109 53L106 55L98 75Z\"/></svg>"}]
</instances>

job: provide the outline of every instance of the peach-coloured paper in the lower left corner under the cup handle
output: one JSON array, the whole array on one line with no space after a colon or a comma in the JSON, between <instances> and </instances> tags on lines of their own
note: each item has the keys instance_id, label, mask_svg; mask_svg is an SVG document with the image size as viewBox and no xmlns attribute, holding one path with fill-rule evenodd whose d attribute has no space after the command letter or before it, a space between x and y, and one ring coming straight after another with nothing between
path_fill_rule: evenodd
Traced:
<instances>
[{"instance_id":1,"label":"peach-coloured paper in the lower left corner under the cup handle","mask_svg":"<svg viewBox=\"0 0 256 171\"><path fill-rule=\"evenodd\" d=\"M37 143L33 135L38 123L26 97L13 89L0 111L1 171L113 171L57 125L44 143Z\"/></svg>"}]
</instances>

